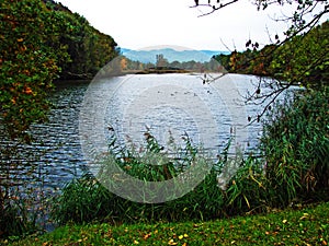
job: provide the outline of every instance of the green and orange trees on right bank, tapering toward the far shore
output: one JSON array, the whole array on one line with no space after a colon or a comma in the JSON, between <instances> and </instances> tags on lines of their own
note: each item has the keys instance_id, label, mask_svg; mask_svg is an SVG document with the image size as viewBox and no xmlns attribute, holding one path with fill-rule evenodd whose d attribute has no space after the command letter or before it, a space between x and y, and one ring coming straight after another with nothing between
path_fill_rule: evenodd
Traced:
<instances>
[{"instance_id":1,"label":"green and orange trees on right bank, tapering toward the far shore","mask_svg":"<svg viewBox=\"0 0 329 246\"><path fill-rule=\"evenodd\" d=\"M268 45L261 50L247 49L219 55L218 60L229 72L272 77L306 87L328 85L329 22L307 34L293 36L282 45ZM247 43L249 46L251 42Z\"/></svg>"}]
</instances>

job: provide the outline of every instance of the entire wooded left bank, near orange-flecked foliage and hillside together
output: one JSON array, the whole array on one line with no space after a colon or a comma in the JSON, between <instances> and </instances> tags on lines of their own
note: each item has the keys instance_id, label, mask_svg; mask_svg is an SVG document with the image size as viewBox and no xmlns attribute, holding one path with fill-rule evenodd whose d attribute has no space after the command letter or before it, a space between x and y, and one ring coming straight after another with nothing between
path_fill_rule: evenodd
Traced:
<instances>
[{"instance_id":1,"label":"entire wooded left bank, near orange-flecked foliage and hillside together","mask_svg":"<svg viewBox=\"0 0 329 246\"><path fill-rule=\"evenodd\" d=\"M0 1L0 119L11 137L45 118L55 79L90 79L116 43L52 0Z\"/></svg>"}]
</instances>

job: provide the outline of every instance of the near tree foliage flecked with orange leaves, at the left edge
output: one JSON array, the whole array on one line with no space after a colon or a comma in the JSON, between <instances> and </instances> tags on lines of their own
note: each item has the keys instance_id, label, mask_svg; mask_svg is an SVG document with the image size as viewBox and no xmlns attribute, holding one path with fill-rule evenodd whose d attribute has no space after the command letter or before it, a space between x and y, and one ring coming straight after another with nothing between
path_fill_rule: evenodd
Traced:
<instances>
[{"instance_id":1,"label":"near tree foliage flecked with orange leaves, at the left edge","mask_svg":"<svg viewBox=\"0 0 329 246\"><path fill-rule=\"evenodd\" d=\"M43 8L35 0L1 1L0 113L11 138L45 118L45 96L59 71L54 50L44 45L53 25Z\"/></svg>"}]
</instances>

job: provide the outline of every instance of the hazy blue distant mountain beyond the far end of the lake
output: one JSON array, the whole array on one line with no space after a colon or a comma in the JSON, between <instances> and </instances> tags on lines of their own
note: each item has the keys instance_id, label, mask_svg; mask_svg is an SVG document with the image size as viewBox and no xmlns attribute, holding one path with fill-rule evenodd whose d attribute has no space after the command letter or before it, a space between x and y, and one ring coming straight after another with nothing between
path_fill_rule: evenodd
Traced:
<instances>
[{"instance_id":1,"label":"hazy blue distant mountain beyond the far end of the lake","mask_svg":"<svg viewBox=\"0 0 329 246\"><path fill-rule=\"evenodd\" d=\"M161 48L161 49L147 49L147 50L132 50L127 48L121 48L122 55L131 60L140 61L144 63L156 62L156 56L162 54L163 57L169 61L209 61L214 55L229 54L227 51L216 50L177 50L173 48Z\"/></svg>"}]
</instances>

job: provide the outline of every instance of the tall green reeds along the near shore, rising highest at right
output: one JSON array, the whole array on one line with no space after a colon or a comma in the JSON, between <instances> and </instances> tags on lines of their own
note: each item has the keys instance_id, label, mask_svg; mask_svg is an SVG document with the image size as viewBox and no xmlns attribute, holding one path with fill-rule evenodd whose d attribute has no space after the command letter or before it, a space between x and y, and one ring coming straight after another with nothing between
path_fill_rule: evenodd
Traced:
<instances>
[{"instance_id":1,"label":"tall green reeds along the near shore, rising highest at right","mask_svg":"<svg viewBox=\"0 0 329 246\"><path fill-rule=\"evenodd\" d=\"M229 163L227 156L223 156L224 162L209 163L214 165L212 172L191 192L161 204L132 202L104 191L93 178L82 178L64 190L55 219L61 224L97 219L114 223L212 220L328 200L328 87L310 94L303 91L291 104L277 106L264 125L261 139L264 156L242 160L225 190L218 187L217 178ZM185 149L175 152L184 154L173 159L180 161L162 166L141 161L145 153L161 153L149 133L144 152L114 148L112 154L116 164L132 176L167 180L183 172L198 154L186 140Z\"/></svg>"}]
</instances>

